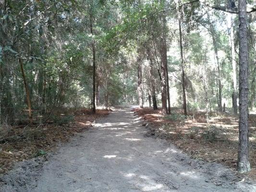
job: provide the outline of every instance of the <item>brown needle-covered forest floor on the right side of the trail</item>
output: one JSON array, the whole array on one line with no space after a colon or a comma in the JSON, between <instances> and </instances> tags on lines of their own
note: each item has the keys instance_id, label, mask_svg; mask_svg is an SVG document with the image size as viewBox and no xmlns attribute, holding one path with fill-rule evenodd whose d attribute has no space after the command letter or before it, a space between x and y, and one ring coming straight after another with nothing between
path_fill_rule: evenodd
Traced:
<instances>
[{"instance_id":1,"label":"brown needle-covered forest floor on the right side of the trail","mask_svg":"<svg viewBox=\"0 0 256 192\"><path fill-rule=\"evenodd\" d=\"M148 136L159 137L178 146L195 159L217 162L236 170L238 151L238 117L228 113L189 112L171 109L171 115L164 117L161 110L152 108L134 109L151 127ZM241 178L256 180L256 115L249 116L249 151L252 171Z\"/></svg>"}]
</instances>

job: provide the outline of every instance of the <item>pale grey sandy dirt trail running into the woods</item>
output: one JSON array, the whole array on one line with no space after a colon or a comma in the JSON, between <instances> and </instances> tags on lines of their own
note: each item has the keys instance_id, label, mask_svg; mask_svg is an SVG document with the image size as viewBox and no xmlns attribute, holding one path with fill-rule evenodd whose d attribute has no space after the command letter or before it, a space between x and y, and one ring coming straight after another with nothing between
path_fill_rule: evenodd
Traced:
<instances>
[{"instance_id":1,"label":"pale grey sandy dirt trail running into the woods","mask_svg":"<svg viewBox=\"0 0 256 192\"><path fill-rule=\"evenodd\" d=\"M144 137L141 124L130 109L98 120L62 146L44 165L36 188L24 192L256 192L218 164Z\"/></svg>"}]
</instances>

